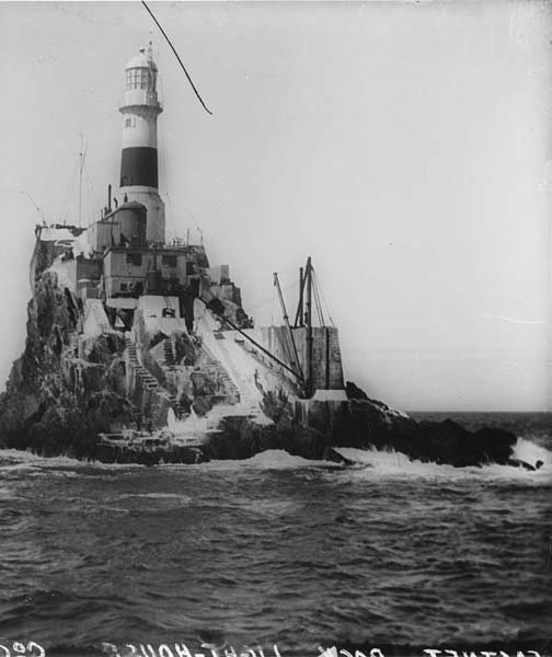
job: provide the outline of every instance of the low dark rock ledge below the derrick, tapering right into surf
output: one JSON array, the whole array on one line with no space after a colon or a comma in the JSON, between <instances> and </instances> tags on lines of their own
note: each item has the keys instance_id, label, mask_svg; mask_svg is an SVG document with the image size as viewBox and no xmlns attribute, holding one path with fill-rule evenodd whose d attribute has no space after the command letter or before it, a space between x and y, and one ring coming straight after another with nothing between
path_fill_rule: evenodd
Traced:
<instances>
[{"instance_id":1,"label":"low dark rock ledge below the derrick, tapering right into surf","mask_svg":"<svg viewBox=\"0 0 552 657\"><path fill-rule=\"evenodd\" d=\"M354 447L394 450L413 460L457 468L507 464L511 459L517 437L509 431L472 433L450 419L416 423L370 400L354 383L347 383L346 392L349 399L334 404L303 402L300 420L284 394L268 392L263 408L275 424L260 427L248 418L231 418L210 440L209 456L244 459L265 449L285 449L307 459L324 459L333 447Z\"/></svg>"}]
</instances>

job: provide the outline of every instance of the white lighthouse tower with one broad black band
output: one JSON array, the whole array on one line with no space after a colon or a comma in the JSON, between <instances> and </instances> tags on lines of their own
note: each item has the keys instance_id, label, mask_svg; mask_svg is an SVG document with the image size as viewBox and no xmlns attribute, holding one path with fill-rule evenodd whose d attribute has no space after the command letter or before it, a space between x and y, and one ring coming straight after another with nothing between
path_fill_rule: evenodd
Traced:
<instances>
[{"instance_id":1,"label":"white lighthouse tower with one broad black band","mask_svg":"<svg viewBox=\"0 0 552 657\"><path fill-rule=\"evenodd\" d=\"M158 192L157 117L162 112L157 94L157 66L151 43L146 53L126 66L120 157L120 196L146 206L148 242L164 243L164 204Z\"/></svg>"}]
</instances>

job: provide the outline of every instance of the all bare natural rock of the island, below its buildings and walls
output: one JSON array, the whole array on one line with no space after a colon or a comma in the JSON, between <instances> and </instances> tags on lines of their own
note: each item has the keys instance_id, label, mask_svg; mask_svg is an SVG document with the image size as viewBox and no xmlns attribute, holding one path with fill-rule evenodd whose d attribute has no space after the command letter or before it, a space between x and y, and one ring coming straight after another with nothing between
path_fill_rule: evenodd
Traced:
<instances>
[{"instance_id":1,"label":"all bare natural rock of the island, below its buildings and walls","mask_svg":"<svg viewBox=\"0 0 552 657\"><path fill-rule=\"evenodd\" d=\"M36 281L27 314L25 349L0 395L1 446L123 462L196 462L197 452L177 449L143 454L114 448L106 456L97 434L137 422L162 426L171 407L203 417L218 403L239 400L220 364L185 332L149 335L138 315L136 343L115 331L83 333L82 303L50 270ZM516 442L502 429L471 433L451 420L416 423L354 383L346 385L346 401L291 402L283 390L262 392L261 410L273 424L249 415L223 417L200 458L244 459L284 449L323 459L333 447L356 447L467 466L508 463Z\"/></svg>"}]
</instances>

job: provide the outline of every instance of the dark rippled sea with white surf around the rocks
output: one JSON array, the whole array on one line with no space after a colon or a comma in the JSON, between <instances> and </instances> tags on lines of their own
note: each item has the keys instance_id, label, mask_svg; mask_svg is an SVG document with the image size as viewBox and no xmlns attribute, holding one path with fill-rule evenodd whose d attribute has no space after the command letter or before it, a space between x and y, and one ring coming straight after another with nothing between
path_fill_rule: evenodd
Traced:
<instances>
[{"instance_id":1,"label":"dark rippled sea with white surf around the rocks","mask_svg":"<svg viewBox=\"0 0 552 657\"><path fill-rule=\"evenodd\" d=\"M551 655L552 414L412 415L544 465L0 450L0 657Z\"/></svg>"}]
</instances>

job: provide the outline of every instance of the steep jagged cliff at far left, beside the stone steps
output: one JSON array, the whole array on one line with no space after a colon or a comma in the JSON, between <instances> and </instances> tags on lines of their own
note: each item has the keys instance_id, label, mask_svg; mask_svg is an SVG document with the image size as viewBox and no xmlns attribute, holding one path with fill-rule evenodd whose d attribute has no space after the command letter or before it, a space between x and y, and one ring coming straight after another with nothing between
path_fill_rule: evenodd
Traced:
<instances>
[{"instance_id":1,"label":"steep jagged cliff at far left, beside the stone steps","mask_svg":"<svg viewBox=\"0 0 552 657\"><path fill-rule=\"evenodd\" d=\"M27 307L25 349L0 395L0 443L44 456L93 453L97 433L130 419L124 339L82 337L82 309L45 272Z\"/></svg>"}]
</instances>

